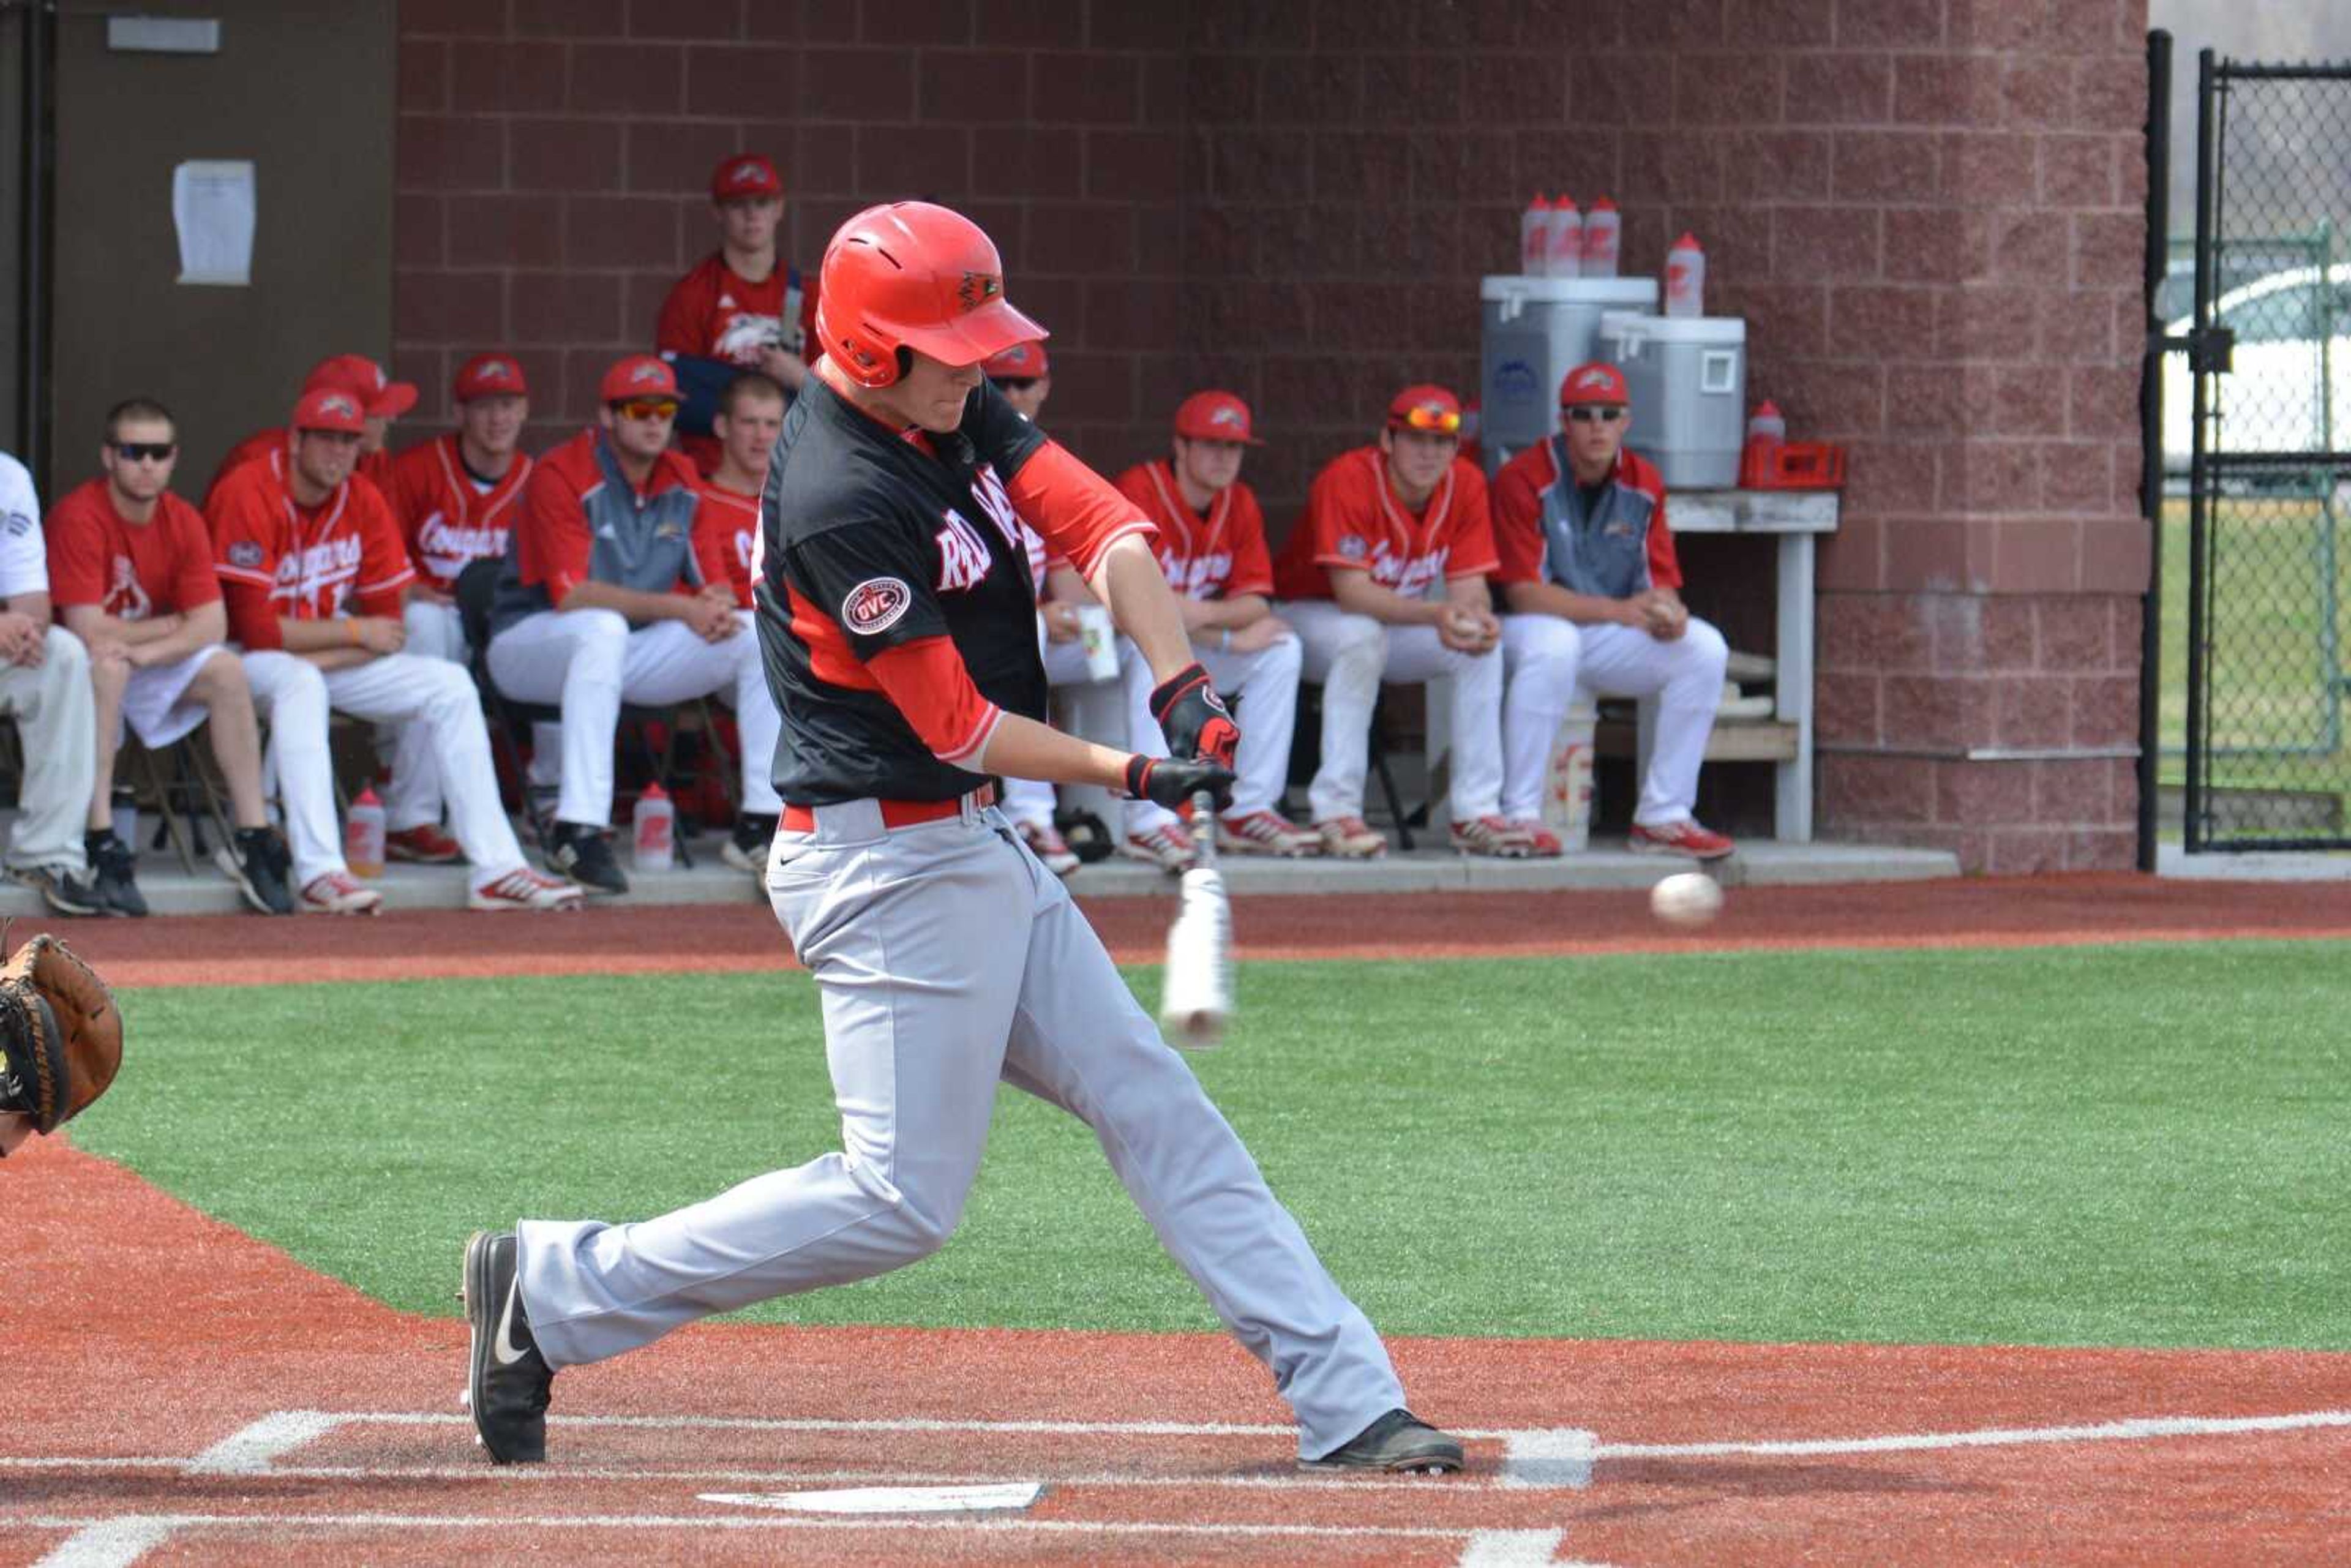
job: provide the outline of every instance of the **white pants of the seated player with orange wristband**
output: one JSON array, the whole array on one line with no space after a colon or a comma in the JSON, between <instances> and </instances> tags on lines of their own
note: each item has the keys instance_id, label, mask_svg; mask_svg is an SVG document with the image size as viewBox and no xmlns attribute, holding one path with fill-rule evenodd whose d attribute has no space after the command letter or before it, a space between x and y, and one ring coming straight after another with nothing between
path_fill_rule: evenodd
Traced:
<instances>
[{"instance_id":1,"label":"white pants of the seated player with orange wristband","mask_svg":"<svg viewBox=\"0 0 2351 1568\"><path fill-rule=\"evenodd\" d=\"M350 870L334 818L334 764L327 752L331 708L369 724L423 729L433 743L433 764L447 780L449 837L473 863L475 889L524 863L498 799L498 776L489 766L482 693L461 668L442 658L383 654L348 670L320 670L296 654L263 649L245 656L245 679L254 686L254 708L270 722L263 766L277 780L296 889L327 872Z\"/></svg>"}]
</instances>

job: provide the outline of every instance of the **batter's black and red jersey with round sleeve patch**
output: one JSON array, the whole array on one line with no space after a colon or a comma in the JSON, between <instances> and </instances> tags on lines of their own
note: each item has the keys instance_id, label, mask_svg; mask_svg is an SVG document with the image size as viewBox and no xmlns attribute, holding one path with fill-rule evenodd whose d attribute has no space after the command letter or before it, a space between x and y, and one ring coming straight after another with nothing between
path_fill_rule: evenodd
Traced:
<instances>
[{"instance_id":1,"label":"batter's black and red jersey with round sleeve patch","mask_svg":"<svg viewBox=\"0 0 2351 1568\"><path fill-rule=\"evenodd\" d=\"M985 381L952 435L922 435L811 376L759 510L752 599L783 715L776 792L802 806L952 799L985 780L1002 715L1044 719L1023 517L1084 574L1114 541L1152 536Z\"/></svg>"}]
</instances>

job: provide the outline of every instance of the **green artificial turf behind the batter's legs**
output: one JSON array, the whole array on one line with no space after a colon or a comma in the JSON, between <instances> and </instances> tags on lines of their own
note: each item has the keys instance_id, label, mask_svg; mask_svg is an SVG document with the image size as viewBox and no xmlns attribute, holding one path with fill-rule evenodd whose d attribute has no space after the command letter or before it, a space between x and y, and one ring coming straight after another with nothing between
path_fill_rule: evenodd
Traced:
<instances>
[{"instance_id":1,"label":"green artificial turf behind the batter's legs","mask_svg":"<svg viewBox=\"0 0 2351 1568\"><path fill-rule=\"evenodd\" d=\"M1197 1070L1389 1333L2351 1347L2337 943L1251 964L1241 1009ZM414 1312L477 1225L837 1138L802 973L125 1016L75 1140ZM748 1316L1213 1326L1091 1133L1011 1091L938 1258Z\"/></svg>"}]
</instances>

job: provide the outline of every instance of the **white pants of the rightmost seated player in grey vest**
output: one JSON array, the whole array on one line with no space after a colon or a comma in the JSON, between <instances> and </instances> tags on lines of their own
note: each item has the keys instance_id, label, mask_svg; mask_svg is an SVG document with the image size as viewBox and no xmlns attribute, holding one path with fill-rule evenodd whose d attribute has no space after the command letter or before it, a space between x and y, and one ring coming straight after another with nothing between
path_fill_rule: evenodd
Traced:
<instances>
[{"instance_id":1,"label":"white pants of the rightmost seated player in grey vest","mask_svg":"<svg viewBox=\"0 0 2351 1568\"><path fill-rule=\"evenodd\" d=\"M1730 644L1719 630L1690 616L1681 637L1657 642L1636 625L1502 616L1502 656L1509 665L1509 790L1502 816L1540 816L1545 757L1582 684L1599 696L1657 698L1648 773L1632 820L1643 827L1690 820L1697 766L1707 759L1714 710L1723 701L1723 665L1730 661Z\"/></svg>"}]
</instances>

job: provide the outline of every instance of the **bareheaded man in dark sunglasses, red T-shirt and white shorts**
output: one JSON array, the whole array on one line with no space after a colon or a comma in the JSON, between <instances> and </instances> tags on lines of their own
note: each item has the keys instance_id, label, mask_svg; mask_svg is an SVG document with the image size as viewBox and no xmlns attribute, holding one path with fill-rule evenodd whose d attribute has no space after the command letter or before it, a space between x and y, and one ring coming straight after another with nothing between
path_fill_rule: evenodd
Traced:
<instances>
[{"instance_id":1,"label":"bareheaded man in dark sunglasses, red T-shirt and white shorts","mask_svg":"<svg viewBox=\"0 0 2351 1568\"><path fill-rule=\"evenodd\" d=\"M165 748L212 719L212 757L228 783L235 839L214 863L261 914L292 914L284 846L261 799L261 724L245 663L226 646L228 611L212 574L205 515L172 494L179 428L160 402L106 414L106 473L49 512L49 597L89 646L99 755L89 792L89 865L115 914L146 914L136 844L113 832L122 729Z\"/></svg>"}]
</instances>

